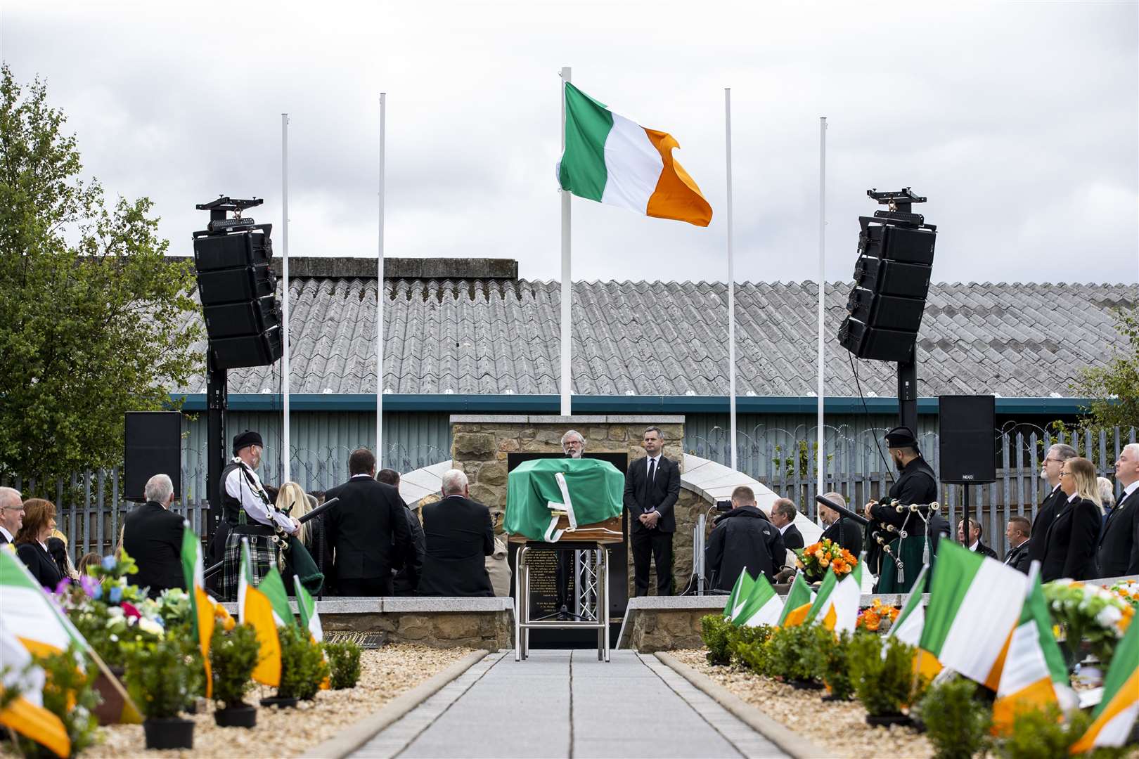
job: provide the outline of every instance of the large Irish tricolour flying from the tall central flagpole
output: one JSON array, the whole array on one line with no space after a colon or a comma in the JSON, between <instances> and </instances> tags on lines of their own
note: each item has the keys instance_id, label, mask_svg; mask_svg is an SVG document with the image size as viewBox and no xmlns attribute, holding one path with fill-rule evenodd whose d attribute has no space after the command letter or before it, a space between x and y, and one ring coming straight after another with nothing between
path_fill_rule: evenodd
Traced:
<instances>
[{"instance_id":1,"label":"large Irish tricolour flying from the tall central flagpole","mask_svg":"<svg viewBox=\"0 0 1139 759\"><path fill-rule=\"evenodd\" d=\"M672 158L680 146L671 134L618 116L568 82L565 115L566 147L558 164L563 190L646 216L697 226L712 221L712 206Z\"/></svg>"}]
</instances>

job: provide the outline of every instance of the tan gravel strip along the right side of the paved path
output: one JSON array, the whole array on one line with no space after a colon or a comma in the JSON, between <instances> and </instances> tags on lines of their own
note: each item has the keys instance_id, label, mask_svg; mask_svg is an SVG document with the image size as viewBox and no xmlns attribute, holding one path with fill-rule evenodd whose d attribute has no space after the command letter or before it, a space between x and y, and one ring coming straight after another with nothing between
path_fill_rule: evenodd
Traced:
<instances>
[{"instance_id":1,"label":"tan gravel strip along the right side of the paved path","mask_svg":"<svg viewBox=\"0 0 1139 759\"><path fill-rule=\"evenodd\" d=\"M821 701L822 691L797 691L744 668L713 667L703 650L670 653L820 748L834 751L835 757L933 756L933 746L925 736L909 727L867 725L866 709L857 701Z\"/></svg>"}]
</instances>

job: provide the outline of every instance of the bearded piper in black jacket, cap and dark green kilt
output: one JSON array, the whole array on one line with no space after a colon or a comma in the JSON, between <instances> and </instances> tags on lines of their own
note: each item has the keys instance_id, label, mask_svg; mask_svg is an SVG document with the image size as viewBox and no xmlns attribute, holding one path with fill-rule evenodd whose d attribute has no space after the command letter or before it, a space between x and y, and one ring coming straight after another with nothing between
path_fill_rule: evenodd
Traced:
<instances>
[{"instance_id":1,"label":"bearded piper in black jacket, cap and dark green kilt","mask_svg":"<svg viewBox=\"0 0 1139 759\"><path fill-rule=\"evenodd\" d=\"M890 488L890 497L901 503L933 503L937 500L937 477L933 469L921 457L917 438L909 427L895 427L886 432L886 446L890 456L900 472L898 481ZM871 501L866 504L866 517L870 520L867 527L866 545L870 546L867 556L870 571L878 575L878 593L908 593L917 579L921 566L932 563L936 554L936 543L944 520L934 514L929 520L929 535L926 535L926 522L916 513L898 513L896 510L878 505ZM906 530L907 537L891 541L890 550L902 560L902 570L890 556L877 550L877 544L870 533L883 530L883 526L892 525L898 530Z\"/></svg>"}]
</instances>

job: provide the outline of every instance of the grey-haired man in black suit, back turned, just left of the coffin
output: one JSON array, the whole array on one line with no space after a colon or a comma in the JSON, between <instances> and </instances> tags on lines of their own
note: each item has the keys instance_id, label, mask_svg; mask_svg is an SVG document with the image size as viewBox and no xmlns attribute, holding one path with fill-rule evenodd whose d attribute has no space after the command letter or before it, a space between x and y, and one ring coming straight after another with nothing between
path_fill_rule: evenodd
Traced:
<instances>
[{"instance_id":1,"label":"grey-haired man in black suit, back turned, just left of the coffin","mask_svg":"<svg viewBox=\"0 0 1139 759\"><path fill-rule=\"evenodd\" d=\"M494 553L491 511L469 497L467 476L443 473L443 498L424 504L427 552L419 574L419 595L493 596L486 556Z\"/></svg>"}]
</instances>

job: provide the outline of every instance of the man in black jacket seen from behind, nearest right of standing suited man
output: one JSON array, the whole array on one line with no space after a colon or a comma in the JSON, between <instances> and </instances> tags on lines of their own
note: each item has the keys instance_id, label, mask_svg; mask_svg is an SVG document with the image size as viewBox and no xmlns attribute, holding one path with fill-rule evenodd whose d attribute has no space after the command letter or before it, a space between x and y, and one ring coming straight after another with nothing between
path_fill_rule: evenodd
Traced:
<instances>
[{"instance_id":1,"label":"man in black jacket seen from behind, nearest right of standing suited man","mask_svg":"<svg viewBox=\"0 0 1139 759\"><path fill-rule=\"evenodd\" d=\"M732 510L715 519L704 550L704 568L713 588L730 591L744 568L752 579L762 574L773 583L786 548L779 528L755 505L749 487L732 494Z\"/></svg>"}]
</instances>

